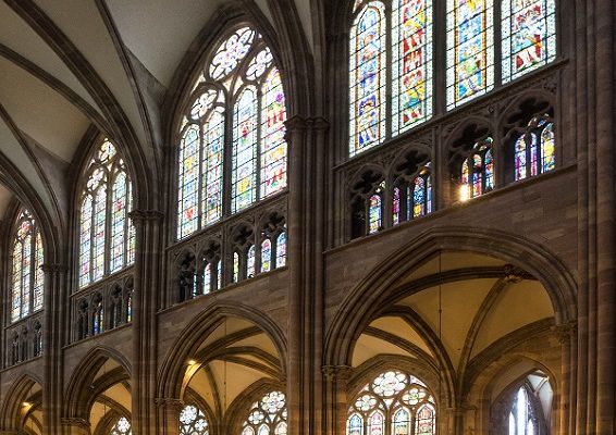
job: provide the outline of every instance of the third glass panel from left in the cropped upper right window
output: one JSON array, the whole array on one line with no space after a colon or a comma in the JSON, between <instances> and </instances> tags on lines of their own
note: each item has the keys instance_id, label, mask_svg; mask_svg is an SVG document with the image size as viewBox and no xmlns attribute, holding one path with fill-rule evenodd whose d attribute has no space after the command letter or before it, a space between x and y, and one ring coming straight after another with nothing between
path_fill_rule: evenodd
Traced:
<instances>
[{"instance_id":1,"label":"third glass panel from left in the cropped upper right window","mask_svg":"<svg viewBox=\"0 0 616 435\"><path fill-rule=\"evenodd\" d=\"M493 0L447 0L447 109L494 86Z\"/></svg>"}]
</instances>

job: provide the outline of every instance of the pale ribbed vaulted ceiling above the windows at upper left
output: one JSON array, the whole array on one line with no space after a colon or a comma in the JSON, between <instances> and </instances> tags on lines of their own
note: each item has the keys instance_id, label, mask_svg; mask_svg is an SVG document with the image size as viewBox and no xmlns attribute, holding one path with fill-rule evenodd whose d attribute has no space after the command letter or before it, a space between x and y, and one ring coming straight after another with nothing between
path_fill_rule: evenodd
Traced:
<instances>
[{"instance_id":1,"label":"pale ribbed vaulted ceiling above the windows at upper left","mask_svg":"<svg viewBox=\"0 0 616 435\"><path fill-rule=\"evenodd\" d=\"M272 8L284 7L310 46L312 2L0 1L0 217L11 192L20 196L12 183L27 181L50 215L65 219L71 165L90 126L130 138L160 171L162 102L217 11L235 5L276 28Z\"/></svg>"}]
</instances>

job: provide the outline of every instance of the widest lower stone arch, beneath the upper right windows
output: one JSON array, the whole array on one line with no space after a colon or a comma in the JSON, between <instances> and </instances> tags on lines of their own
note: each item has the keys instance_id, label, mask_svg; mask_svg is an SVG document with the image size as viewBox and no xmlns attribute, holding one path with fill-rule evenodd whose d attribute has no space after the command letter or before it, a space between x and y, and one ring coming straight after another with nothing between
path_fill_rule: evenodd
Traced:
<instances>
[{"instance_id":1,"label":"widest lower stone arch, beneath the upper right windows","mask_svg":"<svg viewBox=\"0 0 616 435\"><path fill-rule=\"evenodd\" d=\"M519 265L545 287L556 324L576 319L576 282L563 262L542 246L502 231L477 227L431 228L384 259L347 295L346 307L332 320L325 336L324 363L349 365L355 341L368 324L389 307L393 283L443 251L469 251ZM408 259L414 259L408 261Z\"/></svg>"}]
</instances>

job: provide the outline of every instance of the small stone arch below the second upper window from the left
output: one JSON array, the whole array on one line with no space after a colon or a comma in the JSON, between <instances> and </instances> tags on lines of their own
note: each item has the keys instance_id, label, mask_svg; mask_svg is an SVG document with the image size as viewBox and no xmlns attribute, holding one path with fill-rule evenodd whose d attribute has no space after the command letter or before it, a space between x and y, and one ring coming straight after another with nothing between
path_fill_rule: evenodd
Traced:
<instances>
[{"instance_id":1,"label":"small stone arch below the second upper window from the left","mask_svg":"<svg viewBox=\"0 0 616 435\"><path fill-rule=\"evenodd\" d=\"M93 391L93 381L96 374L107 361L118 363L125 375L131 375L131 363L128 359L115 349L98 346L86 353L74 370L69 381L64 399L64 415L67 418L84 419L88 421L89 408L91 407L96 393ZM113 377L111 381L116 381ZM104 388L103 388L104 389Z\"/></svg>"}]
</instances>

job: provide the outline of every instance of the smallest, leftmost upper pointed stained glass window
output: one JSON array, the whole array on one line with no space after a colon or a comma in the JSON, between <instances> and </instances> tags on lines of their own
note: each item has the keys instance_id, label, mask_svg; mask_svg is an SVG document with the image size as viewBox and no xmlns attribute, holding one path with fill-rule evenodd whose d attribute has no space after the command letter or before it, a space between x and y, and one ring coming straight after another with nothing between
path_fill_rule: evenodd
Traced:
<instances>
[{"instance_id":1,"label":"smallest, leftmost upper pointed stained glass window","mask_svg":"<svg viewBox=\"0 0 616 435\"><path fill-rule=\"evenodd\" d=\"M42 237L29 211L23 209L13 236L11 321L15 322L42 309Z\"/></svg>"}]
</instances>

